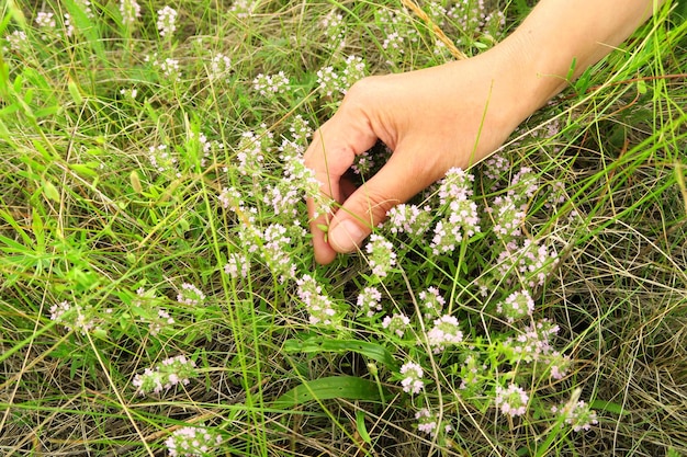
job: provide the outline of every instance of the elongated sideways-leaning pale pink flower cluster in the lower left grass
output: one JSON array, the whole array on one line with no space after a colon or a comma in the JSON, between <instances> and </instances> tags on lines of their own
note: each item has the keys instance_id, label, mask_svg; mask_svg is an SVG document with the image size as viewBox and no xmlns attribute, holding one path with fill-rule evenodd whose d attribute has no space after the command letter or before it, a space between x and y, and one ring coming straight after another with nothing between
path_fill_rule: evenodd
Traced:
<instances>
[{"instance_id":1,"label":"elongated sideways-leaning pale pink flower cluster in the lower left grass","mask_svg":"<svg viewBox=\"0 0 687 457\"><path fill-rule=\"evenodd\" d=\"M146 368L143 375L136 375L132 384L144 396L149 392L160 393L181 384L188 386L198 377L195 362L184 355L166 358L155 369Z\"/></svg>"}]
</instances>

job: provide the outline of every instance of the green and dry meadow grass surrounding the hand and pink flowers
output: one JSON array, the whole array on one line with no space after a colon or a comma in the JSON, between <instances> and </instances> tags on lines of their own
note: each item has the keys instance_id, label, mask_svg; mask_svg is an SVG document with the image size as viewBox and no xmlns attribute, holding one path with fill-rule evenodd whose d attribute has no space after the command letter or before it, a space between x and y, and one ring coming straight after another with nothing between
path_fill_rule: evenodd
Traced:
<instances>
[{"instance_id":1,"label":"green and dry meadow grass surrounding the hand and pink flowers","mask_svg":"<svg viewBox=\"0 0 687 457\"><path fill-rule=\"evenodd\" d=\"M687 455L684 4L667 1L528 119L499 152L506 167L471 170L481 232L432 253L448 210L438 186L413 202L431 207L428 236L381 228L396 254L383 277L367 251L315 265L306 181L284 180L297 167L284 156L307 145L302 119L315 128L341 100L318 89L323 68L451 59L425 19L385 0L178 1L177 28L160 36L164 2L142 3L131 25L119 4L0 7L0 36L25 33L0 54L3 455L165 455L189 426L219 436L212 455L227 456ZM506 26L477 30L420 7L466 55L529 8L494 3ZM55 12L54 28L36 26L40 11ZM279 71L289 83L260 93L254 80ZM297 195L278 207L274 188ZM509 192L527 218L521 236L499 238L485 208ZM504 245L525 239L556 262L519 273L523 258ZM233 261L245 275L225 271ZM312 323L305 275L329 324ZM370 316L357 306L365 287L382 297ZM429 287L463 334L439 353L425 336ZM497 306L520 289L536 310L511 322ZM382 325L394 313L410 321L403 336ZM544 318L560 328L551 351L570 357L560 379L554 355L528 362L509 343ZM195 365L189 382L142 395L139 376L181 355ZM408 362L424 369L419 395L402 389ZM511 382L529 393L522 415L499 408ZM577 398L596 411L588 431L551 412ZM423 432L424 408L452 429Z\"/></svg>"}]
</instances>

